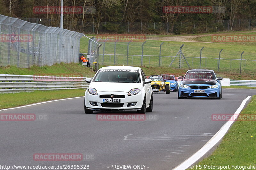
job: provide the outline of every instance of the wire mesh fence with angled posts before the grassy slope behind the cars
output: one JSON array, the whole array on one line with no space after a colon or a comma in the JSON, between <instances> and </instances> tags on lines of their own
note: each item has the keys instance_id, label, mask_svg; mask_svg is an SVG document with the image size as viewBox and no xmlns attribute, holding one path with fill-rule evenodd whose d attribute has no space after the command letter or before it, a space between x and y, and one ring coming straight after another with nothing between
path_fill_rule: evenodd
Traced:
<instances>
[{"instance_id":1,"label":"wire mesh fence with angled posts before the grassy slope behind the cars","mask_svg":"<svg viewBox=\"0 0 256 170\"><path fill-rule=\"evenodd\" d=\"M97 39L96 39L97 40ZM100 42L100 65L129 65L212 70L256 70L256 53L164 42Z\"/></svg>"}]
</instances>

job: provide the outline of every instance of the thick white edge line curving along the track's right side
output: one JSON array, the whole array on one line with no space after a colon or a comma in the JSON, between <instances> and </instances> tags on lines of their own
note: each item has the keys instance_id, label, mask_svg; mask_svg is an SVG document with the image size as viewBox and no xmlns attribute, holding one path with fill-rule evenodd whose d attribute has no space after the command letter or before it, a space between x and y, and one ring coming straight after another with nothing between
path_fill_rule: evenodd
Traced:
<instances>
[{"instance_id":1,"label":"thick white edge line curving along the track's right side","mask_svg":"<svg viewBox=\"0 0 256 170\"><path fill-rule=\"evenodd\" d=\"M246 97L241 105L238 107L234 115L226 122L220 130L196 153L194 153L191 157L186 159L180 165L176 166L173 170L180 170L180 169L187 169L189 166L193 165L198 159L200 159L206 152L208 152L215 144L217 144L222 137L227 133L230 126L233 124L235 118L234 116L238 116L242 109L244 108L245 103L251 98L252 96Z\"/></svg>"}]
</instances>

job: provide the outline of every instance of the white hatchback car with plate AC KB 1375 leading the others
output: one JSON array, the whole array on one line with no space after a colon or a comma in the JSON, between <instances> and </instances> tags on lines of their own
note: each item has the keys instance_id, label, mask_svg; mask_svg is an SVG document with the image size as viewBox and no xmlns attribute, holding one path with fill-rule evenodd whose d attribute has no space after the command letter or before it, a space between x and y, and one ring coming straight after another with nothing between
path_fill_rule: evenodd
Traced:
<instances>
[{"instance_id":1,"label":"white hatchback car with plate AC KB 1375 leading the others","mask_svg":"<svg viewBox=\"0 0 256 170\"><path fill-rule=\"evenodd\" d=\"M140 67L102 67L92 78L85 91L84 112L153 110L151 79L146 78Z\"/></svg>"}]
</instances>

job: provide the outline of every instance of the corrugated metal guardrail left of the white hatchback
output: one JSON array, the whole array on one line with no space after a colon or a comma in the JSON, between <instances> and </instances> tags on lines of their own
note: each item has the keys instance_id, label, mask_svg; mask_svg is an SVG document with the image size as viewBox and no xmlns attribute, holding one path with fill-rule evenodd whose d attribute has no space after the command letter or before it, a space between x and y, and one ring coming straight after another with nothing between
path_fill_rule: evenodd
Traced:
<instances>
[{"instance_id":1,"label":"corrugated metal guardrail left of the white hatchback","mask_svg":"<svg viewBox=\"0 0 256 170\"><path fill-rule=\"evenodd\" d=\"M86 89L85 77L53 77L0 74L0 93L35 90Z\"/></svg>"}]
</instances>

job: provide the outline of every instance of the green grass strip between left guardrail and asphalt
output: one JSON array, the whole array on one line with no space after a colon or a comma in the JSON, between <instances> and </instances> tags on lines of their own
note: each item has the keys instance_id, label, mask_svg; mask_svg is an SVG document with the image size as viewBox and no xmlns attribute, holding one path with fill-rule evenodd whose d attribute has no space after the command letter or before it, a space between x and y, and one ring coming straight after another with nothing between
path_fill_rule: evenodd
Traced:
<instances>
[{"instance_id":1,"label":"green grass strip between left guardrail and asphalt","mask_svg":"<svg viewBox=\"0 0 256 170\"><path fill-rule=\"evenodd\" d=\"M49 90L0 94L0 109L24 106L42 101L84 96L85 89Z\"/></svg>"}]
</instances>

